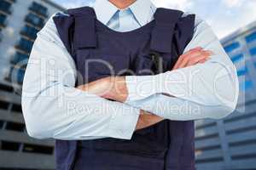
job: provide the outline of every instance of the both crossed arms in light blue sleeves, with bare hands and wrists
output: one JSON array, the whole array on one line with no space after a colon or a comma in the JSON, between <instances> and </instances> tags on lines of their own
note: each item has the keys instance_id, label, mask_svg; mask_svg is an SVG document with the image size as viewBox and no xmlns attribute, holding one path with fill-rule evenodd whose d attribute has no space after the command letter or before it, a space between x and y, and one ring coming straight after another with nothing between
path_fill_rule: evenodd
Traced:
<instances>
[{"instance_id":1,"label":"both crossed arms in light blue sleeves, with bare hands and wrists","mask_svg":"<svg viewBox=\"0 0 256 170\"><path fill-rule=\"evenodd\" d=\"M50 19L38 33L26 66L21 105L27 132L37 139L131 139L135 129L163 118L183 121L229 115L236 107L236 68L210 27L203 21L195 27L193 40L185 49L187 53L172 71L170 68L148 77L108 77L75 87L75 63ZM194 49L197 46L204 50ZM191 88L189 81L180 83L181 75L187 79L191 71L197 70L193 77L195 87ZM155 82L166 84L155 88L159 86ZM131 86L132 83L135 85ZM102 90L109 84L110 90ZM140 93L136 93L137 84ZM215 95L215 88L221 96ZM183 103L199 107L200 113L169 108Z\"/></svg>"}]
</instances>

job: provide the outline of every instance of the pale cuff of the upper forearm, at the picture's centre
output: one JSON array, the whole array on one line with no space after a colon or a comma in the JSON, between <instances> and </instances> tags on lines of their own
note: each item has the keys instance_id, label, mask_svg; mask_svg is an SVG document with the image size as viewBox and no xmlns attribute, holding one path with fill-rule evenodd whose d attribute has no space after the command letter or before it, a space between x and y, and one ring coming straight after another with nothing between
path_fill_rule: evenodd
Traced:
<instances>
[{"instance_id":1,"label":"pale cuff of the upper forearm, at the picture's centre","mask_svg":"<svg viewBox=\"0 0 256 170\"><path fill-rule=\"evenodd\" d=\"M128 90L128 97L125 103L128 104L131 101L145 99L148 96L157 93L157 89L160 87L159 76L126 76L125 77L126 88Z\"/></svg>"}]
</instances>

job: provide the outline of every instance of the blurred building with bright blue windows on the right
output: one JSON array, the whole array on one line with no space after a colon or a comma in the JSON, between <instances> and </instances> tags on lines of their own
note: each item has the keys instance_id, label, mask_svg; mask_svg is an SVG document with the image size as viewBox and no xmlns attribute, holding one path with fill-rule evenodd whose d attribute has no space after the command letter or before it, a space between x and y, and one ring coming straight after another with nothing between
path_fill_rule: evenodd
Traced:
<instances>
[{"instance_id":1,"label":"blurred building with bright blue windows on the right","mask_svg":"<svg viewBox=\"0 0 256 170\"><path fill-rule=\"evenodd\" d=\"M256 22L222 40L240 82L236 111L221 121L196 122L198 170L256 169Z\"/></svg>"}]
</instances>

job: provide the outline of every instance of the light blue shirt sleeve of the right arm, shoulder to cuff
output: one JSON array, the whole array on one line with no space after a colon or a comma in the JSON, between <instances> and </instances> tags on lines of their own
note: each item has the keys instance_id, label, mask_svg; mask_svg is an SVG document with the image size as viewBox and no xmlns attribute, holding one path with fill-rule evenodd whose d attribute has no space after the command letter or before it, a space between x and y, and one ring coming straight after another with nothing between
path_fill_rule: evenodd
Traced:
<instances>
[{"instance_id":1,"label":"light blue shirt sleeve of the right arm, shoulder to cuff","mask_svg":"<svg viewBox=\"0 0 256 170\"><path fill-rule=\"evenodd\" d=\"M129 92L125 103L175 120L221 118L229 115L236 108L239 93L236 67L224 52L211 27L198 17L195 19L194 37L184 53L196 47L211 50L211 59L204 64L166 71L159 75L125 77ZM183 108L184 104L188 106L186 111L173 111L172 106ZM200 113L192 114L189 107L200 108Z\"/></svg>"}]
</instances>

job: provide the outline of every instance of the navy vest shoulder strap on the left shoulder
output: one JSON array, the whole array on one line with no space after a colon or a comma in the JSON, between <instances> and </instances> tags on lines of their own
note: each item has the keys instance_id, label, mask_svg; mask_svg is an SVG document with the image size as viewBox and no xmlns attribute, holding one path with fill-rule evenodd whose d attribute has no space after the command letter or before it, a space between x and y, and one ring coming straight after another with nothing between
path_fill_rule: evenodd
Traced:
<instances>
[{"instance_id":1,"label":"navy vest shoulder strap on the left shoulder","mask_svg":"<svg viewBox=\"0 0 256 170\"><path fill-rule=\"evenodd\" d=\"M96 48L96 14L93 8L70 8L53 17L57 31L70 54L78 48Z\"/></svg>"}]
</instances>

